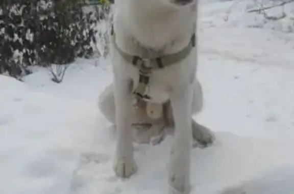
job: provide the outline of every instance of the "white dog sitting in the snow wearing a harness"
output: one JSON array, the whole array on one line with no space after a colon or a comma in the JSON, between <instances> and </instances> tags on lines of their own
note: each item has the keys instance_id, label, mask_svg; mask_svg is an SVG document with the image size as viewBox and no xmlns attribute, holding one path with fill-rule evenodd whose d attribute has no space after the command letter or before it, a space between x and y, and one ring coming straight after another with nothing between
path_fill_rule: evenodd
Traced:
<instances>
[{"instance_id":1,"label":"white dog sitting in the snow wearing a harness","mask_svg":"<svg viewBox=\"0 0 294 194\"><path fill-rule=\"evenodd\" d=\"M169 104L170 123L175 125L168 172L171 193L190 191L191 137L201 144L213 141L209 129L192 120L192 114L202 109L195 76L197 4L196 0L115 1L110 42L114 89L102 93L99 102L101 112L116 125L114 172L121 178L137 171L133 97Z\"/></svg>"}]
</instances>

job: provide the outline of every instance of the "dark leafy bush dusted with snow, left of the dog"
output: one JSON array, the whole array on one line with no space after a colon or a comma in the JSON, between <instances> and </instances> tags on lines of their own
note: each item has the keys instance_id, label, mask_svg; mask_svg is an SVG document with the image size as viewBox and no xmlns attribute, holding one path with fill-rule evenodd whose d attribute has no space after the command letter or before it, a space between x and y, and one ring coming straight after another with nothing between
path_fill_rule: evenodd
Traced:
<instances>
[{"instance_id":1,"label":"dark leafy bush dusted with snow, left of the dog","mask_svg":"<svg viewBox=\"0 0 294 194\"><path fill-rule=\"evenodd\" d=\"M0 73L20 77L32 65L64 65L92 56L97 19L83 12L83 0L2 2Z\"/></svg>"}]
</instances>

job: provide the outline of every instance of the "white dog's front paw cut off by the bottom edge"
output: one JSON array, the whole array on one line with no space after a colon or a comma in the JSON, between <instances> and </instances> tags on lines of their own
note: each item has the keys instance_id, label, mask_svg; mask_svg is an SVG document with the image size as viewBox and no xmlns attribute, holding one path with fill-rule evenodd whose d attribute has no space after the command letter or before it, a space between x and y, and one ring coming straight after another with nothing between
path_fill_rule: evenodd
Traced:
<instances>
[{"instance_id":1,"label":"white dog's front paw cut off by the bottom edge","mask_svg":"<svg viewBox=\"0 0 294 194\"><path fill-rule=\"evenodd\" d=\"M189 194L190 183L186 175L182 173L169 172L169 194Z\"/></svg>"}]
</instances>

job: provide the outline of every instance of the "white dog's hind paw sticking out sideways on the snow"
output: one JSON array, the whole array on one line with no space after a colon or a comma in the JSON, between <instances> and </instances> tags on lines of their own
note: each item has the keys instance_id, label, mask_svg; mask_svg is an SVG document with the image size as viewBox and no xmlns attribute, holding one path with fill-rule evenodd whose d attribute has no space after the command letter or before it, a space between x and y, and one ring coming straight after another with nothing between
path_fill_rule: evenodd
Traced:
<instances>
[{"instance_id":1,"label":"white dog's hind paw sticking out sideways on the snow","mask_svg":"<svg viewBox=\"0 0 294 194\"><path fill-rule=\"evenodd\" d=\"M192 123L193 139L197 141L200 147L208 147L215 141L215 136L210 129L193 121Z\"/></svg>"}]
</instances>

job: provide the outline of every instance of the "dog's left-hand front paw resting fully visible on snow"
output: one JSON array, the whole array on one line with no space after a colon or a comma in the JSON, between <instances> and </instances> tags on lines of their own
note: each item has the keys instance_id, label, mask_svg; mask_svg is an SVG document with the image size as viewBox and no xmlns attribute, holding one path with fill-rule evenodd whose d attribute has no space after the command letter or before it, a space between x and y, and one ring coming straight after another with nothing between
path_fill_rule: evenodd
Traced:
<instances>
[{"instance_id":1,"label":"dog's left-hand front paw resting fully visible on snow","mask_svg":"<svg viewBox=\"0 0 294 194\"><path fill-rule=\"evenodd\" d=\"M137 172L137 165L134 158L121 157L116 159L113 170L117 177L129 178Z\"/></svg>"}]
</instances>

